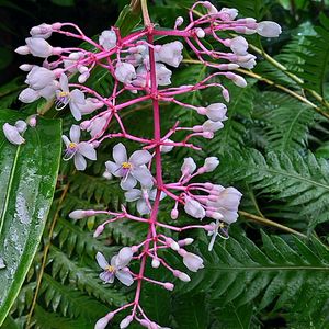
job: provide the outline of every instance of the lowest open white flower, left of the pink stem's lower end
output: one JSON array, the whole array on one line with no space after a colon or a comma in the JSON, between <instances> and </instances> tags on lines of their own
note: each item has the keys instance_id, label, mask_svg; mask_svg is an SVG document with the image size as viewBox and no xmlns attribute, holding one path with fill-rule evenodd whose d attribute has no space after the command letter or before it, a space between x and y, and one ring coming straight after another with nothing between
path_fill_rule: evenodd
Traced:
<instances>
[{"instance_id":1,"label":"lowest open white flower, left of the pink stem's lower end","mask_svg":"<svg viewBox=\"0 0 329 329\"><path fill-rule=\"evenodd\" d=\"M133 251L128 247L124 247L120 250L118 254L115 254L111 259L111 264L106 261L105 257L101 253L97 253L97 261L100 268L104 270L100 274L100 279L104 283L113 283L116 276L124 285L131 286L134 283L132 274L127 271L126 266L133 258Z\"/></svg>"}]
</instances>

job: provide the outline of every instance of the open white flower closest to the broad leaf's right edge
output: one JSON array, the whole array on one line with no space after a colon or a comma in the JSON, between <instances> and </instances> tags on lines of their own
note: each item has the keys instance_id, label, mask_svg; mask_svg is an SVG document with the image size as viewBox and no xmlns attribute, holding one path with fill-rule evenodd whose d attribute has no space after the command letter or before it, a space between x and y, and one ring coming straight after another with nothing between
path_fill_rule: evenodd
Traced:
<instances>
[{"instance_id":1,"label":"open white flower closest to the broad leaf's right edge","mask_svg":"<svg viewBox=\"0 0 329 329\"><path fill-rule=\"evenodd\" d=\"M80 139L80 127L77 125L72 125L70 128L70 139L65 135L61 136L66 145L65 151L65 160L69 160L71 158L75 159L75 166L78 170L84 170L87 167L87 159L97 160L97 152L91 144L81 141Z\"/></svg>"}]
</instances>

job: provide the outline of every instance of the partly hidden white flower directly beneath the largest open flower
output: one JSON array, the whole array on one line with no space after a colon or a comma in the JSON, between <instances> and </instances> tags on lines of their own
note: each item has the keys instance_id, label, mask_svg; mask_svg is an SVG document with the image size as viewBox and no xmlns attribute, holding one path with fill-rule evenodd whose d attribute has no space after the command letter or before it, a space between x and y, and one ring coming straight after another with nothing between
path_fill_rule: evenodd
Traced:
<instances>
[{"instance_id":1,"label":"partly hidden white flower directly beneath the largest open flower","mask_svg":"<svg viewBox=\"0 0 329 329\"><path fill-rule=\"evenodd\" d=\"M137 201L137 212L143 216L150 213L150 207L148 201L155 201L157 195L157 190L150 190L147 188L143 189L132 189L125 192L125 198L127 202ZM163 200L166 194L161 192L160 200Z\"/></svg>"}]
</instances>

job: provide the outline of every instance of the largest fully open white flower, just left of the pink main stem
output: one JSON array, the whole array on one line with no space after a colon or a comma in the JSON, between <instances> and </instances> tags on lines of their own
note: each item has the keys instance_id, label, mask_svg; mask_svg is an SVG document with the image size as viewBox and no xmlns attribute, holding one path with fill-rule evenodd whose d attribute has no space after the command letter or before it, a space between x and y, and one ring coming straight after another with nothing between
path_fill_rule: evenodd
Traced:
<instances>
[{"instance_id":1,"label":"largest fully open white flower, just left of the pink main stem","mask_svg":"<svg viewBox=\"0 0 329 329\"><path fill-rule=\"evenodd\" d=\"M145 166L151 159L151 155L147 150L137 150L127 158L126 148L123 144L117 144L113 148L113 161L106 161L106 170L115 177L122 178L121 188L123 190L132 190L136 186L137 181L143 186L152 185L152 177Z\"/></svg>"}]
</instances>

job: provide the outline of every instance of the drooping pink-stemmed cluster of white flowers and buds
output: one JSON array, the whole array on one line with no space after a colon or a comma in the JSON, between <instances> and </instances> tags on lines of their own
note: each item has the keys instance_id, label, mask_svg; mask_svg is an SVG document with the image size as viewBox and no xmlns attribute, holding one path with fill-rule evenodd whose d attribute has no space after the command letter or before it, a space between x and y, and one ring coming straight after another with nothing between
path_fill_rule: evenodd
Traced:
<instances>
[{"instance_id":1,"label":"drooping pink-stemmed cluster of white flowers and buds","mask_svg":"<svg viewBox=\"0 0 329 329\"><path fill-rule=\"evenodd\" d=\"M207 11L206 14L195 18L197 5L203 7ZM229 102L229 91L223 84L225 79L241 88L247 86L246 80L234 70L239 67L252 68L256 57L248 53L248 42L245 37L239 35L223 38L222 35L225 35L223 32L258 33L265 37L276 37L281 33L281 27L274 22L258 23L251 18L237 19L237 16L236 9L217 10L209 1L198 1L190 9L189 22L184 27L184 20L181 16L177 19L172 30L157 29L146 20L145 27L125 37L121 36L116 27L103 31L98 43L71 23L41 24L31 30L31 37L25 39L26 45L16 49L19 54L31 54L44 59L42 66L29 64L21 66L22 70L29 72L25 81L29 87L20 94L22 102L30 103L39 98L55 99L56 110L69 107L76 121L89 115L88 120L71 126L69 138L63 136L66 145L65 160L73 158L76 168L84 170L88 164L86 158L97 160L97 148L105 139L123 138L143 145L141 149L128 156L125 146L117 143L113 148L112 159L105 162L103 174L106 179L118 180L120 186L125 192L126 202L136 202L138 215L128 213L124 206L121 212L78 209L70 214L72 219L106 215L107 219L94 231L95 238L103 232L106 225L122 219L145 223L148 228L144 241L138 246L122 248L111 260L106 260L100 252L97 253L98 264L103 270L100 279L105 284L112 284L115 279L127 286L136 283L134 300L101 318L95 324L97 329L105 328L117 313L127 308L131 308L132 313L121 321L120 328L127 328L134 319L146 328L161 328L147 317L139 304L141 284L150 282L169 291L174 288L174 284L147 277L146 265L150 262L155 269L166 268L173 277L184 282L191 280L189 274L174 269L166 261L163 251L167 249L177 252L191 272L204 268L203 259L186 250L193 242L192 238L175 241L170 236L161 234L161 228L175 232L193 228L203 229L211 236L208 249L212 250L217 237L228 238L228 227L238 218L241 198L238 190L211 182L193 182L194 178L213 172L217 168L219 160L216 157L206 158L198 168L193 158L185 158L181 166L181 177L175 182L163 181L161 162L162 154L168 154L177 147L200 150L201 148L190 143L190 139L195 136L211 139L215 132L223 128L227 120L226 103ZM73 32L70 31L72 29ZM83 48L53 47L47 42L53 33L87 42L94 49L90 52ZM179 39L163 44L155 42L157 36ZM207 36L218 42L217 47L208 48L208 43L204 42ZM172 68L179 68L183 61L185 45L188 46L185 49L194 54L196 61L211 68L211 73L193 86L170 87ZM95 67L102 67L112 76L114 83L111 94L100 94L83 84ZM218 88L223 102L195 106L180 101L181 94L208 88ZM118 95L127 91L136 97L121 102ZM126 127L121 118L121 113L126 107L146 101L152 103L155 122L152 138L129 134L129 127ZM161 134L160 102L170 102L186 111L196 111L201 118L203 117L203 122L193 127L181 126L177 122L169 132ZM120 133L113 133L109 128L110 123L114 121L120 127ZM21 135L25 129L24 122L23 124L16 122L14 125L8 123L3 126L7 138L16 145L25 141ZM87 140L80 140L81 131L84 132L83 136L90 136ZM186 132L183 140L175 140L178 132ZM158 214L159 204L164 197L173 202L170 214L172 219L178 219L179 213L184 211L198 222L182 227L162 223ZM138 273L129 269L132 261L140 262Z\"/></svg>"}]
</instances>

